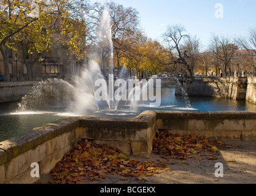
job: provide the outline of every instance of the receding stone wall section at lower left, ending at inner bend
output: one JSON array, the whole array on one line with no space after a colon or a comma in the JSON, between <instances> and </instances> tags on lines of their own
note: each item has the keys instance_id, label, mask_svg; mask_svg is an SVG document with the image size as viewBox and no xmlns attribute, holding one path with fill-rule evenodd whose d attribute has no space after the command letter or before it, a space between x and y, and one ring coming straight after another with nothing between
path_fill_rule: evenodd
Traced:
<instances>
[{"instance_id":1,"label":"receding stone wall section at lower left, ending at inner bend","mask_svg":"<svg viewBox=\"0 0 256 196\"><path fill-rule=\"evenodd\" d=\"M0 183L34 183L31 164L39 164L40 175L49 173L79 138L79 120L62 119L0 142Z\"/></svg>"}]
</instances>

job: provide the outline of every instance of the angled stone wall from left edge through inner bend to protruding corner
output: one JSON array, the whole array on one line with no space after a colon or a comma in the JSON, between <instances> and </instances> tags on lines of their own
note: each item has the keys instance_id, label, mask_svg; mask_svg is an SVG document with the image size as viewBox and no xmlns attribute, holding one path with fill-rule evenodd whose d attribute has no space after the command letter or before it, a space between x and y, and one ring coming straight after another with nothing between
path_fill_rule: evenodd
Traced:
<instances>
[{"instance_id":1,"label":"angled stone wall from left edge through inner bend to protruding corner","mask_svg":"<svg viewBox=\"0 0 256 196\"><path fill-rule=\"evenodd\" d=\"M40 175L50 173L81 138L107 143L126 154L149 156L155 137L156 113L136 118L65 118L0 142L0 184L35 183L31 164Z\"/></svg>"}]
</instances>

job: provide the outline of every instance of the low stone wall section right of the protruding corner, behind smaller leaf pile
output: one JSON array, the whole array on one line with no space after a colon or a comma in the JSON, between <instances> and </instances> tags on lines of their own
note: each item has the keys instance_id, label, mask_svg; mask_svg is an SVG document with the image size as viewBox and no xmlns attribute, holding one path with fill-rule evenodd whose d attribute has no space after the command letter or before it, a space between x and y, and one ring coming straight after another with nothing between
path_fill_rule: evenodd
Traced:
<instances>
[{"instance_id":1,"label":"low stone wall section right of the protruding corner, behind smaller leaf pile","mask_svg":"<svg viewBox=\"0 0 256 196\"><path fill-rule=\"evenodd\" d=\"M256 113L249 111L157 111L157 129L217 140L256 141Z\"/></svg>"}]
</instances>

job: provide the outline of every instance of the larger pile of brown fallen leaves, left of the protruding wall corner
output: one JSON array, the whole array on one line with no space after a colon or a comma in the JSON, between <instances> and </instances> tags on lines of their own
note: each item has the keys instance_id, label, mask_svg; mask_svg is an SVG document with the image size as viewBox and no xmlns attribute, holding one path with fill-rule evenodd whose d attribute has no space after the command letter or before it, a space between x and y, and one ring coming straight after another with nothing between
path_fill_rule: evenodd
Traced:
<instances>
[{"instance_id":1,"label":"larger pile of brown fallen leaves, left of the protruding wall corner","mask_svg":"<svg viewBox=\"0 0 256 196\"><path fill-rule=\"evenodd\" d=\"M88 140L79 140L74 149L66 153L63 159L56 164L51 174L53 180L49 183L86 183L106 178L107 173L112 175L132 176L141 179L150 176L158 170L169 171L165 168L168 162L160 160L139 162L128 157L117 148L108 145L92 143Z\"/></svg>"}]
</instances>

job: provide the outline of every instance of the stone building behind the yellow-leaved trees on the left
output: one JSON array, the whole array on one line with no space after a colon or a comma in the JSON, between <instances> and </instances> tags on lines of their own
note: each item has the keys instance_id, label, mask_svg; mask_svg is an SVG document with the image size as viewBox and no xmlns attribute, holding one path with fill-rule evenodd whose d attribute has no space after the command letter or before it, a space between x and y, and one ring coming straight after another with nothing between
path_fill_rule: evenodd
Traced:
<instances>
[{"instance_id":1,"label":"stone building behind the yellow-leaved trees on the left","mask_svg":"<svg viewBox=\"0 0 256 196\"><path fill-rule=\"evenodd\" d=\"M83 66L87 64L87 62L76 61L72 56L61 53L58 50L48 51L42 57L44 60L36 62L32 68L32 80L42 80L45 78L70 80L74 75L79 74ZM33 55L28 55L26 60L28 63L31 63L33 61ZM28 81L28 69L25 62L19 53L13 50L9 50L9 72L10 81ZM4 81L4 60L1 53L0 81Z\"/></svg>"}]
</instances>

